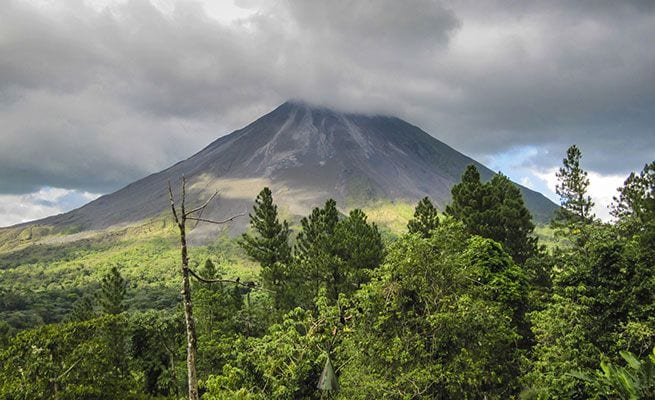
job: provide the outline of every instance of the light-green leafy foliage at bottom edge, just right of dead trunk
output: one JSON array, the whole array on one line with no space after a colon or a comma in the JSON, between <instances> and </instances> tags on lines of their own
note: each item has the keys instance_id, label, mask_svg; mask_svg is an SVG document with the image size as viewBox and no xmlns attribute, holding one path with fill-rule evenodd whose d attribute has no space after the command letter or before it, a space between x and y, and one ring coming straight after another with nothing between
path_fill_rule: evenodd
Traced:
<instances>
[{"instance_id":1,"label":"light-green leafy foliage at bottom edge, just right of dead trunk","mask_svg":"<svg viewBox=\"0 0 655 400\"><path fill-rule=\"evenodd\" d=\"M234 361L210 377L204 399L320 399L316 386L337 339L339 308L318 296L319 314L299 308L261 338L240 339Z\"/></svg>"}]
</instances>

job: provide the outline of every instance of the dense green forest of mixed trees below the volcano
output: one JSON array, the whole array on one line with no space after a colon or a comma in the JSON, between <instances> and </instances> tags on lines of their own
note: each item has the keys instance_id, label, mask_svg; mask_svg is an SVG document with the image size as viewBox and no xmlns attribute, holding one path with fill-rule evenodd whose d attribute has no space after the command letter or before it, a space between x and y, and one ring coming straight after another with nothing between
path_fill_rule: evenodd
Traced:
<instances>
[{"instance_id":1,"label":"dense green forest of mixed trees below the volcano","mask_svg":"<svg viewBox=\"0 0 655 400\"><path fill-rule=\"evenodd\" d=\"M581 158L571 146L557 173L547 243L518 188L474 166L444 210L424 198L394 234L333 200L291 226L264 188L246 233L189 249L198 396L655 398L655 161L602 222ZM112 243L57 257L93 266ZM0 290L0 398L188 396L180 247L148 246L138 273L116 255L99 276L71 267L70 285L47 284L61 296ZM39 251L18 272L0 257L5 281L45 274L55 250ZM233 254L256 268L235 276Z\"/></svg>"}]
</instances>

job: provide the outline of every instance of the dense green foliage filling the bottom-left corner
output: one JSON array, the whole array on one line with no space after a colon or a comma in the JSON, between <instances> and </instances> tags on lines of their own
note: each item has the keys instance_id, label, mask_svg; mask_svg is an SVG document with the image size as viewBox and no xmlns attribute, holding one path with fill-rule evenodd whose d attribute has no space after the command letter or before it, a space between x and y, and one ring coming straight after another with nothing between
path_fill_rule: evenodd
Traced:
<instances>
[{"instance_id":1,"label":"dense green foliage filling the bottom-left corner","mask_svg":"<svg viewBox=\"0 0 655 400\"><path fill-rule=\"evenodd\" d=\"M20 332L0 353L5 399L134 398L132 381L112 362L110 337L122 316Z\"/></svg>"}]
</instances>

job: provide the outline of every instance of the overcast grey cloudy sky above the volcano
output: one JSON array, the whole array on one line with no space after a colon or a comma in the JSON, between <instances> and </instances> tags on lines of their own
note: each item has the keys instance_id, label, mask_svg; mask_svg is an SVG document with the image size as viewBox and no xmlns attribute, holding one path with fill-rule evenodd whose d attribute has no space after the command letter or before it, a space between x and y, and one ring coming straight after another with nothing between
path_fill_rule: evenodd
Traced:
<instances>
[{"instance_id":1,"label":"overcast grey cloudy sky above the volcano","mask_svg":"<svg viewBox=\"0 0 655 400\"><path fill-rule=\"evenodd\" d=\"M655 1L0 0L0 226L80 206L287 99L391 114L597 213L655 159Z\"/></svg>"}]
</instances>

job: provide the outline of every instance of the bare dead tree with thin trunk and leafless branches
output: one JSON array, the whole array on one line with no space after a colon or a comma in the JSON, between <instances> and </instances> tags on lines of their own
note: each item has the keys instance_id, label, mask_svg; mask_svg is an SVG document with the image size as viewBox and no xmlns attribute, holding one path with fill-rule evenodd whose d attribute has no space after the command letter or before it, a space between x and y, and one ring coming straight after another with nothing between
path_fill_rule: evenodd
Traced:
<instances>
[{"instance_id":1,"label":"bare dead tree with thin trunk and leafless branches","mask_svg":"<svg viewBox=\"0 0 655 400\"><path fill-rule=\"evenodd\" d=\"M171 202L171 210L173 211L173 218L175 218L175 223L177 224L180 230L180 246L182 254L182 302L184 303L184 320L186 322L186 333L187 333L187 379L189 385L189 400L198 400L198 376L196 373L196 353L198 352L198 338L196 335L196 325L193 320L193 303L191 300L191 285L189 282L189 275L193 275L196 278L198 276L191 271L189 268L189 255L187 252L187 241L186 241L186 221L196 221L196 222L207 222L211 224L222 225L226 224L237 217L245 215L245 213L234 215L230 218L227 218L223 221L214 221L207 218L195 217L195 213L201 213L209 203L216 197L218 192L215 192L207 201L192 210L187 211L185 209L186 203L186 178L182 177L182 198L180 199L180 210L175 207L175 199L173 197L173 189L171 188L171 183L168 182L168 195Z\"/></svg>"}]
</instances>

